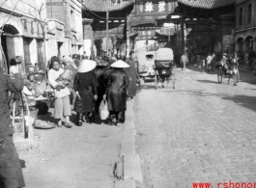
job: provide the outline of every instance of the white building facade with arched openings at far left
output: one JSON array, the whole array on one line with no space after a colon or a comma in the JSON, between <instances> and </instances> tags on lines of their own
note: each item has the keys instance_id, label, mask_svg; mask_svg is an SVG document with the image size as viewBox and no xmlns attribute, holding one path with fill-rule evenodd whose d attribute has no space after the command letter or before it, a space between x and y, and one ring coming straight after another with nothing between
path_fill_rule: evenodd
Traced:
<instances>
[{"instance_id":1,"label":"white building facade with arched openings at far left","mask_svg":"<svg viewBox=\"0 0 256 188\"><path fill-rule=\"evenodd\" d=\"M29 64L39 63L45 67L43 61L43 28L40 23L46 17L40 7L44 0L13 0L5 1L0 8L1 28L1 67L8 73L9 61L15 56L22 58L22 71ZM42 19L40 20L39 17ZM5 58L4 58L5 57ZM6 61L5 61L6 59ZM4 66L6 65L6 66Z\"/></svg>"}]
</instances>

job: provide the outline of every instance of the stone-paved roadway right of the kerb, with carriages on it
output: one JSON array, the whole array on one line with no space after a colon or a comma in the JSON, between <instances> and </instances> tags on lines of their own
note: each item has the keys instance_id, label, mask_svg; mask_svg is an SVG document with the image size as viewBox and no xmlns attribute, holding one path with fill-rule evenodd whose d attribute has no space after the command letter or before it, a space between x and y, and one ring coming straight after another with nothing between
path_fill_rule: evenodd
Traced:
<instances>
[{"instance_id":1,"label":"stone-paved roadway right of the kerb, with carriages on it","mask_svg":"<svg viewBox=\"0 0 256 188\"><path fill-rule=\"evenodd\" d=\"M256 181L256 77L238 86L215 74L177 70L176 90L142 86L134 99L145 188ZM231 82L232 83L232 82Z\"/></svg>"}]
</instances>

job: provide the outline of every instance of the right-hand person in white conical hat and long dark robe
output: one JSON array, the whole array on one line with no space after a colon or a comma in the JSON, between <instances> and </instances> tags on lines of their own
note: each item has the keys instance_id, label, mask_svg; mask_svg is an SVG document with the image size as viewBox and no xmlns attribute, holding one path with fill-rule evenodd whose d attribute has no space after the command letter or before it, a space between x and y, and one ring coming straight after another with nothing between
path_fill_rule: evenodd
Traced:
<instances>
[{"instance_id":1,"label":"right-hand person in white conical hat and long dark robe","mask_svg":"<svg viewBox=\"0 0 256 188\"><path fill-rule=\"evenodd\" d=\"M110 67L115 69L109 75L108 88L103 98L107 98L108 110L116 115L117 121L112 121L111 124L119 125L127 110L128 74L124 67L128 67L128 64L120 60Z\"/></svg>"}]
</instances>

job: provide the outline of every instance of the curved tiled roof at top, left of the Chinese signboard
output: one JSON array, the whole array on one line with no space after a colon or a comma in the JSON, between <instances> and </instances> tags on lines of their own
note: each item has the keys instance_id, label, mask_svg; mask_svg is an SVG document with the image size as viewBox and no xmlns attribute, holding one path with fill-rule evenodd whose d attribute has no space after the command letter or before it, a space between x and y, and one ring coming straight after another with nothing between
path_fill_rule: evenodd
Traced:
<instances>
[{"instance_id":1,"label":"curved tiled roof at top, left of the Chinese signboard","mask_svg":"<svg viewBox=\"0 0 256 188\"><path fill-rule=\"evenodd\" d=\"M107 3L108 2L108 3ZM111 0L85 0L83 5L86 9L93 12L119 11L132 5L135 0L123 0L121 3L113 3Z\"/></svg>"}]
</instances>

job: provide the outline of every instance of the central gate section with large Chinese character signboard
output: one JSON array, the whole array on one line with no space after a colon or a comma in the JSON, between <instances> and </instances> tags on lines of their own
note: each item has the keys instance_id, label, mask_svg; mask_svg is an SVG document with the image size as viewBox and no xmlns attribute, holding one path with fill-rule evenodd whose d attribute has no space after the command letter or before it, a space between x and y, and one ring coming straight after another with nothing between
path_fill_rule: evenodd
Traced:
<instances>
[{"instance_id":1,"label":"central gate section with large Chinese character signboard","mask_svg":"<svg viewBox=\"0 0 256 188\"><path fill-rule=\"evenodd\" d=\"M159 42L168 41L168 34L162 34L161 28L166 17L177 8L176 0L137 0L132 12L128 15L128 36L137 34L134 40L128 41L128 50L133 46L137 50L156 50ZM172 36L173 34L170 34ZM141 43L144 43L144 47ZM172 41L171 43L174 44ZM155 46L155 47L154 47ZM173 45L174 46L174 45Z\"/></svg>"}]
</instances>

